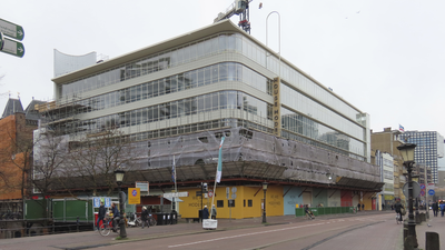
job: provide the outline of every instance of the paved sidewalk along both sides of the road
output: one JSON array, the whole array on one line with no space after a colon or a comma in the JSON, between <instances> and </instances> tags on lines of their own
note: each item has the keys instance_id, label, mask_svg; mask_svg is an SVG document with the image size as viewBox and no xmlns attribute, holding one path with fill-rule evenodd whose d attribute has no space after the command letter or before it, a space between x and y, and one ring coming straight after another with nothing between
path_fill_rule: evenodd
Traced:
<instances>
[{"instance_id":1,"label":"paved sidewalk along both sides of the road","mask_svg":"<svg viewBox=\"0 0 445 250\"><path fill-rule=\"evenodd\" d=\"M382 213L394 213L394 211L362 211L357 214L343 213L334 216L319 216L319 219L333 219L333 218L350 218L363 214L382 214ZM432 213L431 213L432 214ZM234 230L241 228L254 228L254 227L265 227L263 223L263 218L249 218L249 219L218 219L217 230ZM281 216L281 217L267 217L268 226L273 224L284 224L284 223L298 223L307 221L304 217L296 218L295 216ZM425 232L435 231L439 236L445 236L445 227L442 226L445 222L445 218L431 217L427 222L422 222L422 224L416 226L417 240L421 249L425 249ZM428 227L427 223L429 223ZM442 223L442 224L441 224ZM17 238L7 239L0 241L0 249L48 249L59 248L59 249L88 249L95 247L105 247L115 243L125 243L130 241L149 240L154 238L169 238L174 236L184 234L198 234L208 233L210 231L202 230L201 223L187 223L185 219L179 220L178 224L168 226L156 226L150 228L127 228L127 234L129 240L117 241L115 238L118 236L116 233L110 233L108 237L101 237L97 231L87 231L78 233L65 233L65 234L52 234L52 236L41 236L41 237L29 237L29 238ZM399 239L403 238L403 230L400 230ZM442 238L442 237L441 237ZM397 239L396 239L397 240ZM445 242L445 239L441 239L441 242ZM443 246L443 243L442 243ZM445 248L443 248L445 249Z\"/></svg>"}]
</instances>

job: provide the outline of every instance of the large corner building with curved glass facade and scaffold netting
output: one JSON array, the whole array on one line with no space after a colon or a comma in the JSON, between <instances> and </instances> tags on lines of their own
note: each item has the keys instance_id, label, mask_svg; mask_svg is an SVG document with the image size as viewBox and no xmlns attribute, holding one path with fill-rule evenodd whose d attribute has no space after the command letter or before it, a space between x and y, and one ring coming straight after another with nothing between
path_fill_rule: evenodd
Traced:
<instances>
[{"instance_id":1,"label":"large corner building with curved glass facade and scaffold netting","mask_svg":"<svg viewBox=\"0 0 445 250\"><path fill-rule=\"evenodd\" d=\"M369 163L369 116L229 20L53 82L56 101L39 107L46 128L68 144L119 130L144 150L125 186L149 181L156 199L174 187L175 160L189 193L182 218L201 207L197 184L215 181L222 137L219 218L227 199L239 209L233 218L260 216L264 181L270 216L295 214L296 204L372 209L383 186Z\"/></svg>"}]
</instances>

